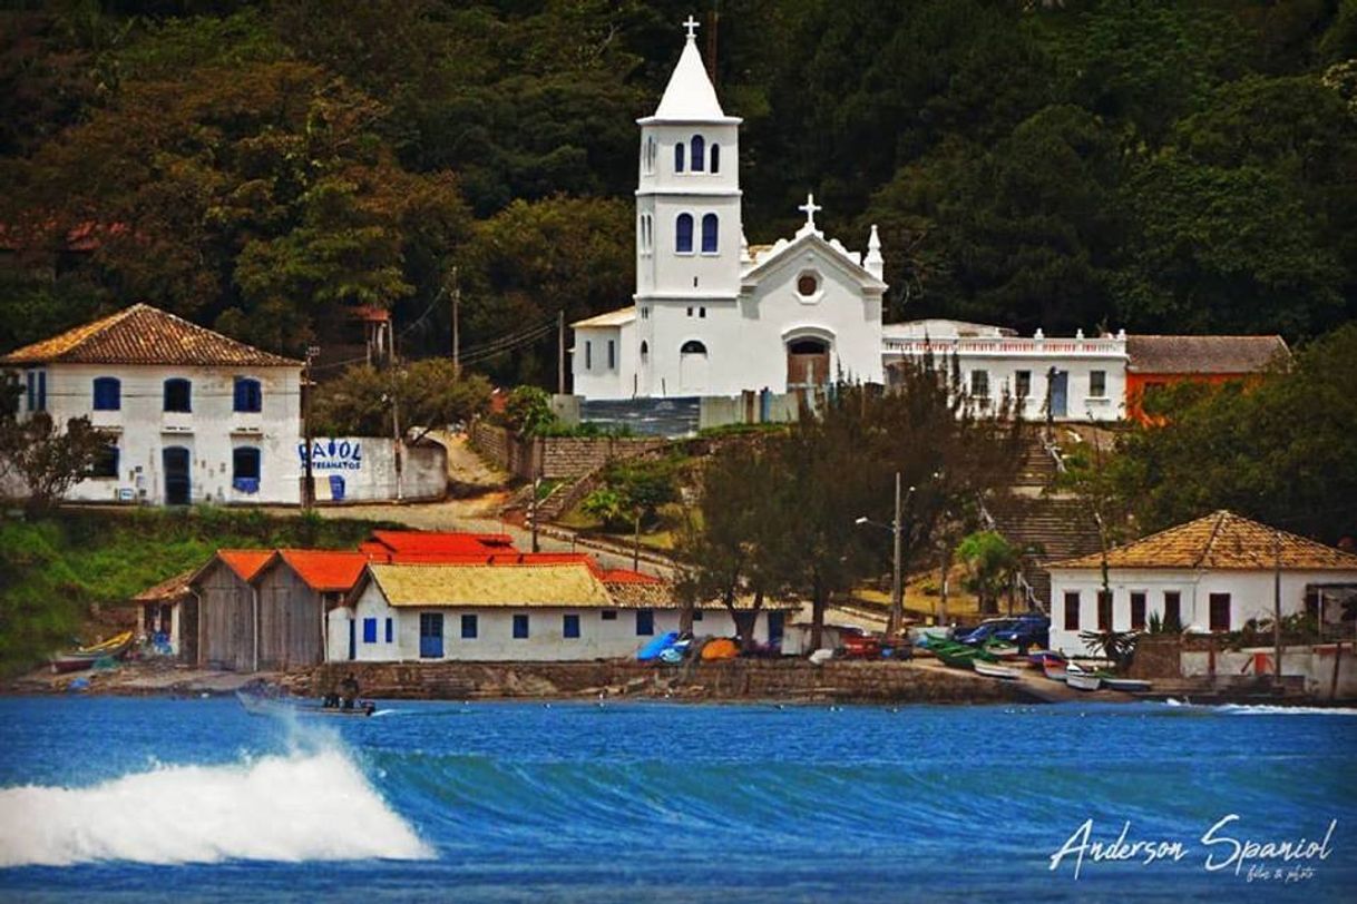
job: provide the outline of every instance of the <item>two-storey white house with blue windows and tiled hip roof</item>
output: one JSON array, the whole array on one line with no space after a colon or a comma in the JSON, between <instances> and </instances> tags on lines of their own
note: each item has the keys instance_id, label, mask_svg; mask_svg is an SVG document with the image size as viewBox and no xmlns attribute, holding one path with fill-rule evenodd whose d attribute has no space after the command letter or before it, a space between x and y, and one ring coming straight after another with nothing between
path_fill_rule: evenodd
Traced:
<instances>
[{"instance_id":1,"label":"two-storey white house with blue windows and tiled hip roof","mask_svg":"<svg viewBox=\"0 0 1357 904\"><path fill-rule=\"evenodd\" d=\"M297 503L301 362L149 305L0 358L19 415L85 416L109 436L84 501ZM15 488L23 492L23 488Z\"/></svg>"}]
</instances>

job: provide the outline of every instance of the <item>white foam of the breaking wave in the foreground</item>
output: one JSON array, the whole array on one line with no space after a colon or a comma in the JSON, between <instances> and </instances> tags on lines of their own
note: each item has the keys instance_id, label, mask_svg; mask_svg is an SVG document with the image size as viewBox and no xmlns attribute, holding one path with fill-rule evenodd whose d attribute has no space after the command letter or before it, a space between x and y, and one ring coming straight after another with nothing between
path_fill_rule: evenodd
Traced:
<instances>
[{"instance_id":1,"label":"white foam of the breaking wave in the foreground","mask_svg":"<svg viewBox=\"0 0 1357 904\"><path fill-rule=\"evenodd\" d=\"M0 867L419 859L433 851L341 749L0 790Z\"/></svg>"}]
</instances>

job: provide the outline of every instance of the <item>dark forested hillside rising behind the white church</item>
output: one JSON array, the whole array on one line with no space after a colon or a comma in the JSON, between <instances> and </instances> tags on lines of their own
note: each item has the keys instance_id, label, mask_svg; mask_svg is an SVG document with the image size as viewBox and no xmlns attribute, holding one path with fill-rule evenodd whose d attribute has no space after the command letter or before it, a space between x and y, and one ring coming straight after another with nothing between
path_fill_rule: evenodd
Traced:
<instances>
[{"instance_id":1,"label":"dark forested hillside rising behind the white church","mask_svg":"<svg viewBox=\"0 0 1357 904\"><path fill-rule=\"evenodd\" d=\"M806 191L849 247L881 224L892 319L1357 313L1357 0L31 0L0 12L0 350L147 300L289 354L389 306L438 354L453 268L472 350L623 305L634 119L689 12L749 240ZM543 342L479 366L550 379Z\"/></svg>"}]
</instances>

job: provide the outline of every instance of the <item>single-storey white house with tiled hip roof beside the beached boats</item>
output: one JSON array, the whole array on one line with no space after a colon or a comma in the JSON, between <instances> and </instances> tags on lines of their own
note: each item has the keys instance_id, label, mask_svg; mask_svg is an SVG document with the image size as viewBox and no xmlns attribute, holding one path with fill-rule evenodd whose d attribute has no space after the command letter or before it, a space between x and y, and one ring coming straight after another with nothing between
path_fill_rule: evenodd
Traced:
<instances>
[{"instance_id":1,"label":"single-storey white house with tiled hip roof beside the beached boats","mask_svg":"<svg viewBox=\"0 0 1357 904\"><path fill-rule=\"evenodd\" d=\"M1152 622L1191 633L1282 617L1342 617L1357 594L1357 556L1217 511L1107 553L1048 565L1050 648L1087 656L1083 632L1140 632ZM1327 606L1324 604L1327 600ZM1323 611L1322 611L1323 610Z\"/></svg>"}]
</instances>

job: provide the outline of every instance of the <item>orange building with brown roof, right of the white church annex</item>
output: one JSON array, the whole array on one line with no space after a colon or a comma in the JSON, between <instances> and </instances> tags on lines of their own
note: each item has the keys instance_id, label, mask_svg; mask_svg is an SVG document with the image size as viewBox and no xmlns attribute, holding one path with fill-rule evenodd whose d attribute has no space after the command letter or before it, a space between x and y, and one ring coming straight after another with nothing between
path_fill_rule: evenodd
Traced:
<instances>
[{"instance_id":1,"label":"orange building with brown roof, right of the white church annex","mask_svg":"<svg viewBox=\"0 0 1357 904\"><path fill-rule=\"evenodd\" d=\"M1281 336L1128 336L1126 417L1145 423L1145 393L1155 389L1258 378L1289 354Z\"/></svg>"}]
</instances>

